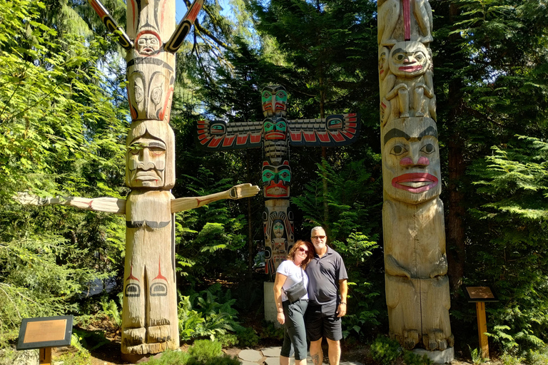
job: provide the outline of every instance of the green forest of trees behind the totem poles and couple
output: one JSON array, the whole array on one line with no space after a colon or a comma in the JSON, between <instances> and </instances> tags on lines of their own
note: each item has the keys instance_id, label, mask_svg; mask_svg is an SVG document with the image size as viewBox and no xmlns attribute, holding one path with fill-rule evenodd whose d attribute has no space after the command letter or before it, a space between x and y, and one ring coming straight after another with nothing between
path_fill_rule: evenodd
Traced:
<instances>
[{"instance_id":1,"label":"green forest of trees behind the totem poles and couple","mask_svg":"<svg viewBox=\"0 0 548 365\"><path fill-rule=\"evenodd\" d=\"M103 4L125 27L124 1ZM291 202L295 237L306 239L315 225L327 227L331 245L347 264L346 341L371 341L387 333L376 1L229 4L222 10L205 1L177 55L173 195L260 185L260 149L205 153L196 148L193 131L203 118L262 120L263 86L287 88L289 118L360 113L357 143L291 149ZM492 344L501 351L534 349L548 341L548 4L430 4L457 346L477 330L475 308L462 285L484 284L499 297L487 306ZM84 0L0 1L3 346L16 338L21 318L83 319L108 305L120 310L123 217L22 206L12 198L24 190L41 196L126 196L125 61L116 36L106 33ZM206 320L207 305L224 308L225 318L237 318L235 309L262 315L262 283L271 279L254 268L263 246L263 207L257 196L178 213L183 339L235 331L219 318L217 324ZM91 282L109 278L110 293L85 295ZM215 282L233 283L231 294L218 284L211 287Z\"/></svg>"}]
</instances>

